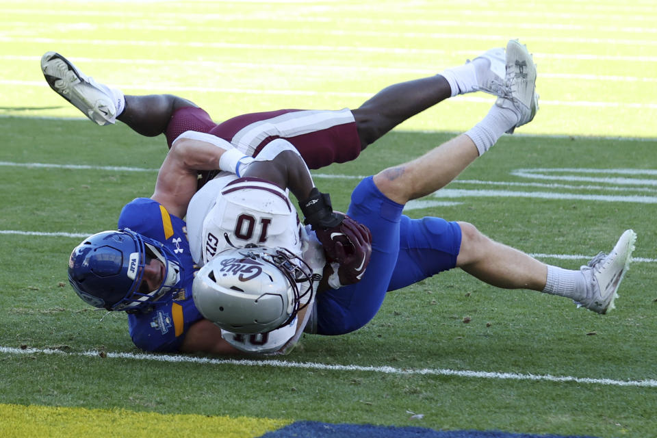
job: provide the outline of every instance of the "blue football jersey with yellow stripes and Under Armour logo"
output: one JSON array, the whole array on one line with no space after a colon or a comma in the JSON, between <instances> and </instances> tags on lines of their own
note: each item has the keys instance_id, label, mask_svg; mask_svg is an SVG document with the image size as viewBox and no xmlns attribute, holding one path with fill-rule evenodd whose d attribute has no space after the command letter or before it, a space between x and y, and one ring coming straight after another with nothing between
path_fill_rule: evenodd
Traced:
<instances>
[{"instance_id":1,"label":"blue football jersey with yellow stripes and Under Armour logo","mask_svg":"<svg viewBox=\"0 0 657 438\"><path fill-rule=\"evenodd\" d=\"M180 261L182 287L160 298L149 311L128 315L130 337L136 346L146 351L177 351L185 331L203 319L192 299L198 267L190 253L185 221L151 198L136 198L121 210L118 228L129 228L162 242Z\"/></svg>"}]
</instances>

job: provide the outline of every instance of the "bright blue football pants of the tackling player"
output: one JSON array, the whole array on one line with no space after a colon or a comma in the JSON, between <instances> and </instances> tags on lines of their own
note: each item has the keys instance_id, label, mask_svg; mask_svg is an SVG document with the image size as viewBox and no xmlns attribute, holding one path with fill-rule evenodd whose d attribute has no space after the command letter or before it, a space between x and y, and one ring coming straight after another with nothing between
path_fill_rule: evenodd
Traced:
<instances>
[{"instance_id":1,"label":"bright blue football pants of the tackling player","mask_svg":"<svg viewBox=\"0 0 657 438\"><path fill-rule=\"evenodd\" d=\"M318 294L317 333L342 335L370 322L385 294L456 266L461 227L441 218L411 219L381 193L372 177L351 196L347 214L372 232L372 257L363 279Z\"/></svg>"}]
</instances>

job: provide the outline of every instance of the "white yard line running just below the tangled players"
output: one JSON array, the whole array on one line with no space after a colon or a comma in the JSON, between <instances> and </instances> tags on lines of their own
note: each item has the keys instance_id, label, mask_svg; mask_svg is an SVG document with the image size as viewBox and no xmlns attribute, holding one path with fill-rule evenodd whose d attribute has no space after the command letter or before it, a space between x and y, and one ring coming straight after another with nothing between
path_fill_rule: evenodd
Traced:
<instances>
[{"instance_id":1,"label":"white yard line running just below the tangled players","mask_svg":"<svg viewBox=\"0 0 657 438\"><path fill-rule=\"evenodd\" d=\"M51 350L48 348L11 348L0 346L0 353L7 355L65 355L71 357L94 357L98 360L107 359L131 359L136 361L159 361L170 363L198 363L201 365L234 365L250 367L271 367L271 368L296 368L303 370L322 370L338 372L372 372L378 374L397 374L404 376L454 376L463 378L491 378L498 380L512 381L544 381L556 383L588 383L591 385L608 385L620 387L657 387L657 380L615 380L610 378L591 378L591 377L574 377L574 376L552 376L550 374L519 374L511 372L489 372L489 371L470 371L470 370L450 370L445 368L394 368L389 366L363 366L363 365L329 365L326 363L312 362L290 362L279 360L248 360L248 359L209 359L205 357L192 357L181 355L151 355L151 354L134 354L125 352L107 352L101 357L98 351L85 352L63 352L61 350Z\"/></svg>"}]
</instances>

